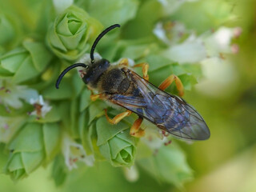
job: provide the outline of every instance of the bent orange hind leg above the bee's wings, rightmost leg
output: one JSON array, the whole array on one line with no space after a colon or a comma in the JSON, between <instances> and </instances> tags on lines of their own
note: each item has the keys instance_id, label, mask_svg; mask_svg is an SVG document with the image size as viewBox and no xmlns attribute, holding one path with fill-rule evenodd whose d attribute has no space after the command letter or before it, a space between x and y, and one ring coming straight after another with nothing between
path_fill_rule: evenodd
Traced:
<instances>
[{"instance_id":1,"label":"bent orange hind leg above the bee's wings, rightmost leg","mask_svg":"<svg viewBox=\"0 0 256 192\"><path fill-rule=\"evenodd\" d=\"M170 75L168 78L166 78L166 80L164 80L160 86L158 86L158 88L160 90L166 90L166 88L168 86L170 86L170 84L172 82L175 82L176 86L177 86L177 89L178 89L178 95L179 96L183 96L184 94L184 87L182 85L182 81L174 74Z\"/></svg>"}]
</instances>

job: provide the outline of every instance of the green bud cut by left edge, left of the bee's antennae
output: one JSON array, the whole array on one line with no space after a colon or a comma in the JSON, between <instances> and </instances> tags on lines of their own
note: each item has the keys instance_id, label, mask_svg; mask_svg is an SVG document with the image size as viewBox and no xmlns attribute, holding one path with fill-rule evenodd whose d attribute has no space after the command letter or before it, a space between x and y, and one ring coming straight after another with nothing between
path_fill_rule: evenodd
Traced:
<instances>
[{"instance_id":1,"label":"green bud cut by left edge, left of the bee's antennae","mask_svg":"<svg viewBox=\"0 0 256 192\"><path fill-rule=\"evenodd\" d=\"M51 58L52 54L42 42L26 40L22 47L2 55L0 76L12 77L15 83L27 81L41 74Z\"/></svg>"}]
</instances>

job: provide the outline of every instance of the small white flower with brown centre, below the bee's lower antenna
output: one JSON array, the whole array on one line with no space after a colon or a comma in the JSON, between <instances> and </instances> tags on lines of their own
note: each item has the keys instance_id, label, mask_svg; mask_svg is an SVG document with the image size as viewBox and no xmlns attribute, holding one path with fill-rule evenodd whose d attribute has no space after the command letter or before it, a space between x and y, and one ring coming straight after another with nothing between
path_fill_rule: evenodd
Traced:
<instances>
[{"instance_id":1,"label":"small white flower with brown centre, below the bee's lower antenna","mask_svg":"<svg viewBox=\"0 0 256 192\"><path fill-rule=\"evenodd\" d=\"M52 108L48 102L44 102L42 95L39 95L36 99L30 98L30 104L34 106L34 111L30 115L36 115L38 118L45 118Z\"/></svg>"}]
</instances>

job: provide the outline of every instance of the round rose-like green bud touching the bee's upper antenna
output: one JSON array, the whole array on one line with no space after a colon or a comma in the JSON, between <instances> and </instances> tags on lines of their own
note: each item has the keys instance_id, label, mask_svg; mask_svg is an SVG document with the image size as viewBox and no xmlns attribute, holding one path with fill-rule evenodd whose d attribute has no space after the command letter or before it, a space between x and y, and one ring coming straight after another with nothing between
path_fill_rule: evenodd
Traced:
<instances>
[{"instance_id":1,"label":"round rose-like green bud touching the bee's upper antenna","mask_svg":"<svg viewBox=\"0 0 256 192\"><path fill-rule=\"evenodd\" d=\"M85 54L88 40L94 40L101 30L102 24L85 10L70 6L50 26L46 41L59 58L75 60Z\"/></svg>"}]
</instances>

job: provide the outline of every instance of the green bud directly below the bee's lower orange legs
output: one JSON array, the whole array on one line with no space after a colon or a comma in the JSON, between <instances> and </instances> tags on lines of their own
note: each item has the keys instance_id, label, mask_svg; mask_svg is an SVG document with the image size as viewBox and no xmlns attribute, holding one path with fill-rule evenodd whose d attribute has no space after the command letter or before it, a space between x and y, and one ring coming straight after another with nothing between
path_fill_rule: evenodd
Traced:
<instances>
[{"instance_id":1,"label":"green bud directly below the bee's lower orange legs","mask_svg":"<svg viewBox=\"0 0 256 192\"><path fill-rule=\"evenodd\" d=\"M110 125L106 118L99 118L97 123L97 146L101 154L112 166L132 166L136 146L130 136L130 126L124 122Z\"/></svg>"}]
</instances>

